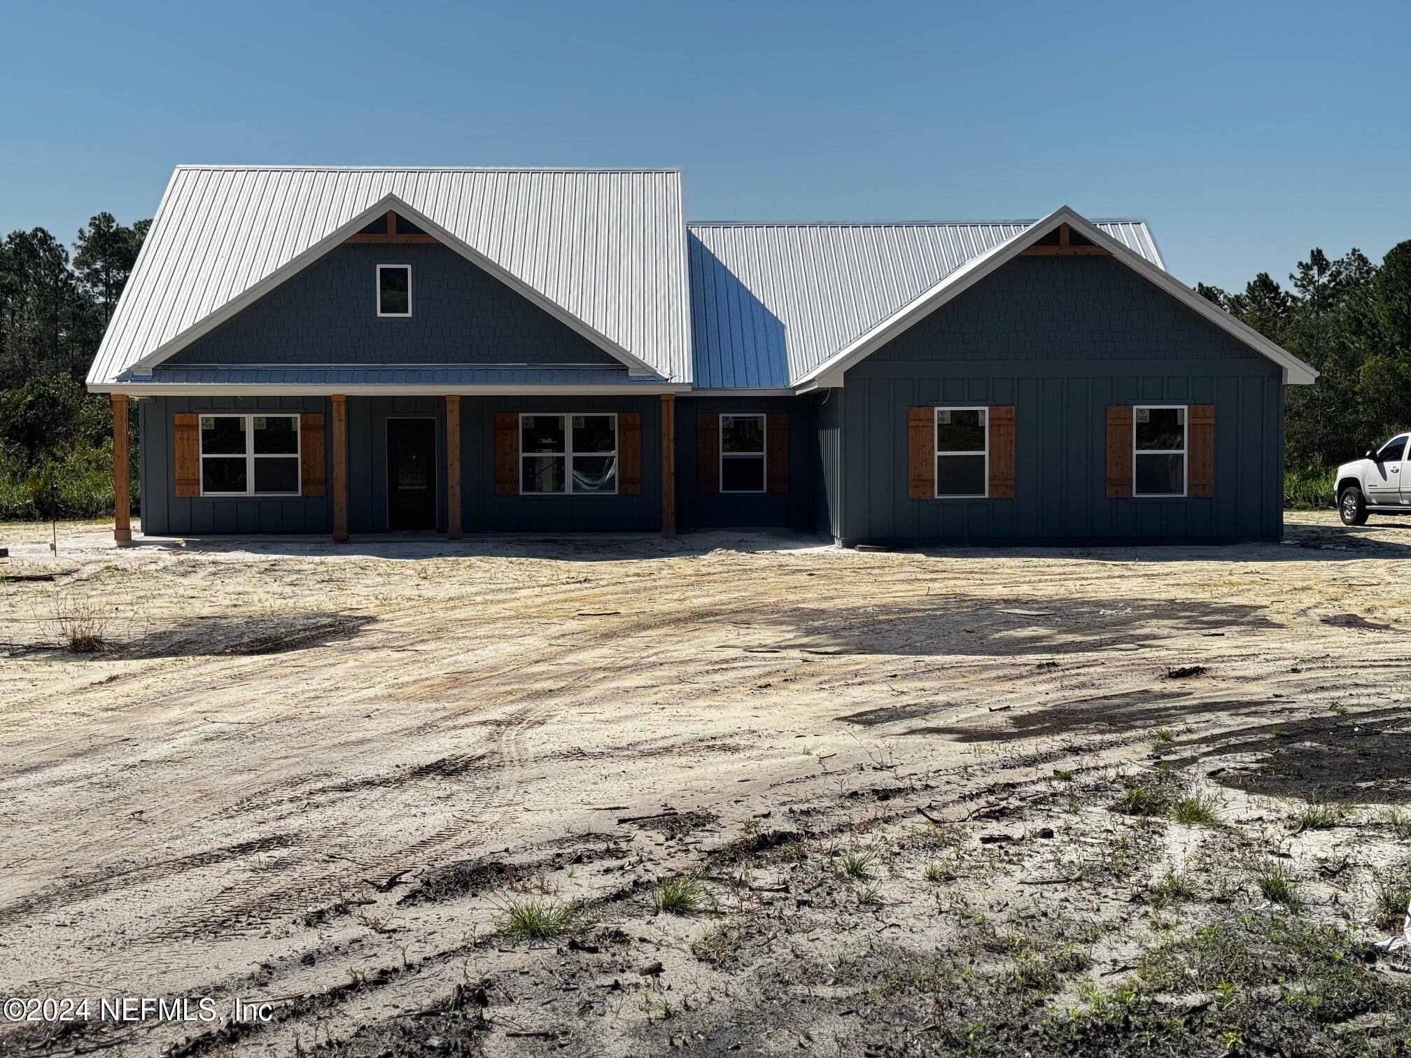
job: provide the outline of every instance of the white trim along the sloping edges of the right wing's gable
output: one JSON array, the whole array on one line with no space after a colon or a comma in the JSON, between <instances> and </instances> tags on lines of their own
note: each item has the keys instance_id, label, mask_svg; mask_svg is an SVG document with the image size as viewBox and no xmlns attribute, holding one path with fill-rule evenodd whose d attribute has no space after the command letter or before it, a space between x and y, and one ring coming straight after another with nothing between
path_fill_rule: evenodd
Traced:
<instances>
[{"instance_id":1,"label":"white trim along the sloping edges of the right wing's gable","mask_svg":"<svg viewBox=\"0 0 1411 1058\"><path fill-rule=\"evenodd\" d=\"M834 353L823 364L803 375L803 378L800 378L796 384L794 391L806 394L818 387L841 387L842 375L849 367L872 353L876 353L876 350L895 339L897 334L931 315L957 295L964 293L1002 265L1019 257L1020 253L1037 243L1060 224L1068 224L1072 230L1078 231L1096 245L1101 245L1103 250L1110 253L1113 258L1156 284L1160 289L1170 293L1188 309L1194 309L1198 315L1204 316L1226 333L1233 334L1256 353L1261 353L1273 360L1284 370L1283 381L1285 385L1309 385L1318 378L1318 371L1301 361L1292 353L1274 344L1253 327L1239 322L1218 305L1211 303L1189 286L1173 278L1168 272L1164 272L1153 265L1140 254L1136 254L1122 245L1122 243L1109 237L1088 220L1074 213L1068 206L1060 206L1047 217L1036 223L1033 227L1020 231L1007 243L1000 243L979 257L967 261L928 291L921 292L910 303L897 309L892 313L892 316Z\"/></svg>"}]
</instances>

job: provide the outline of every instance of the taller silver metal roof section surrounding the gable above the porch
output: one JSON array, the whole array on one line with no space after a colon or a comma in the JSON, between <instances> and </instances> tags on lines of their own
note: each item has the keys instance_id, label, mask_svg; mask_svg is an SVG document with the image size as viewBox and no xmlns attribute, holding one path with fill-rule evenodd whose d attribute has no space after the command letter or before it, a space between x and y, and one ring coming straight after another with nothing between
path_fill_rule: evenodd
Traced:
<instances>
[{"instance_id":1,"label":"taller silver metal roof section surrounding the gable above the porch","mask_svg":"<svg viewBox=\"0 0 1411 1058\"><path fill-rule=\"evenodd\" d=\"M690 381L676 169L212 165L172 175L89 384L175 351L341 241L388 196L608 351Z\"/></svg>"}]
</instances>

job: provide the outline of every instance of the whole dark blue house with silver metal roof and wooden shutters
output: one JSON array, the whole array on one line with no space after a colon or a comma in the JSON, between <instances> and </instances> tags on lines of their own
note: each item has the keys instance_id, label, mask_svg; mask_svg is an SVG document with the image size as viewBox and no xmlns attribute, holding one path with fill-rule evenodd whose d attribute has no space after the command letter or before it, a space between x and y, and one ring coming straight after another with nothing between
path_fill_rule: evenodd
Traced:
<instances>
[{"instance_id":1,"label":"whole dark blue house with silver metal roof and wooden shutters","mask_svg":"<svg viewBox=\"0 0 1411 1058\"><path fill-rule=\"evenodd\" d=\"M677 171L182 166L89 375L150 535L1277 539L1284 387L1147 227L686 223Z\"/></svg>"}]
</instances>

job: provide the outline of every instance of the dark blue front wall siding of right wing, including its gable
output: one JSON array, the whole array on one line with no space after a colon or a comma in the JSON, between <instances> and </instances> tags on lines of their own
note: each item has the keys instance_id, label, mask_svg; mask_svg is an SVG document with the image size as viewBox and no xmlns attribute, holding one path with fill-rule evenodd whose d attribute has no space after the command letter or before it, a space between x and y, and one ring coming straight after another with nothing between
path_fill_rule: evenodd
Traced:
<instances>
[{"instance_id":1,"label":"dark blue front wall siding of right wing, including its gable","mask_svg":"<svg viewBox=\"0 0 1411 1058\"><path fill-rule=\"evenodd\" d=\"M840 536L862 542L1278 539L1280 368L1103 257L1022 257L851 368ZM1108 498L1109 405L1215 408L1212 498ZM912 499L907 409L1015 406L1013 499Z\"/></svg>"}]
</instances>

